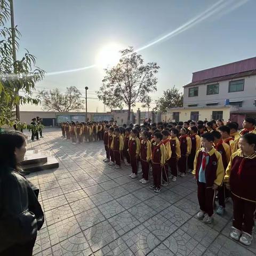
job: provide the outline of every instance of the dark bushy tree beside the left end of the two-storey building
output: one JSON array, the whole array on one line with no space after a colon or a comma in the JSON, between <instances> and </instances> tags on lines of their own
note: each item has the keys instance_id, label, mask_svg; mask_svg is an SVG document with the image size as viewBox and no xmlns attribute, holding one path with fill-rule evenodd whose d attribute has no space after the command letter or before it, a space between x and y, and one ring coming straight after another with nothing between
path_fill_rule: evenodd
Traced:
<instances>
[{"instance_id":1,"label":"dark bushy tree beside the left end of the two-storey building","mask_svg":"<svg viewBox=\"0 0 256 256\"><path fill-rule=\"evenodd\" d=\"M156 100L155 109L166 113L168 108L178 108L183 106L183 94L179 92L179 89L172 87L163 92L163 96Z\"/></svg>"}]
</instances>

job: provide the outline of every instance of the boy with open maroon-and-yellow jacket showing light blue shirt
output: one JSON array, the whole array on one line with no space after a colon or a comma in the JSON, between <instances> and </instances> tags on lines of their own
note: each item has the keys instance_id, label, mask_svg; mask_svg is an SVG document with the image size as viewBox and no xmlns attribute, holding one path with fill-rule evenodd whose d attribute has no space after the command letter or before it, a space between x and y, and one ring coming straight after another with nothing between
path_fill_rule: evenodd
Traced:
<instances>
[{"instance_id":1,"label":"boy with open maroon-and-yellow jacket showing light blue shirt","mask_svg":"<svg viewBox=\"0 0 256 256\"><path fill-rule=\"evenodd\" d=\"M193 170L200 206L197 219L204 223L212 223L215 190L222 185L225 174L221 154L213 147L213 141L212 133L202 134L203 148L196 153Z\"/></svg>"}]
</instances>

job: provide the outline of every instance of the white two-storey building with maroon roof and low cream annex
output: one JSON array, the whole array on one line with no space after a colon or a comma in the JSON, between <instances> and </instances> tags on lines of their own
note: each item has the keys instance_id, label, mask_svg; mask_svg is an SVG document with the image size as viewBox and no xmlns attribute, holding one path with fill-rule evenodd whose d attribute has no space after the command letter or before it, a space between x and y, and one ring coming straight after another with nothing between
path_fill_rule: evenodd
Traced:
<instances>
[{"instance_id":1,"label":"white two-storey building with maroon roof and low cream annex","mask_svg":"<svg viewBox=\"0 0 256 256\"><path fill-rule=\"evenodd\" d=\"M183 86L183 107L169 109L166 118L231 119L256 116L256 57L193 73Z\"/></svg>"}]
</instances>

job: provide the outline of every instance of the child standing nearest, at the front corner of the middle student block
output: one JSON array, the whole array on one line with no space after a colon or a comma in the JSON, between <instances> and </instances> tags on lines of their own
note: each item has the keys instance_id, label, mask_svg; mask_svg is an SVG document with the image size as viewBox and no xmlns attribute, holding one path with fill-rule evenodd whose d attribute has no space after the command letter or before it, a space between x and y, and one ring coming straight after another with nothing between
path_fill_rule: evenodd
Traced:
<instances>
[{"instance_id":1,"label":"child standing nearest, at the front corner of the middle student block","mask_svg":"<svg viewBox=\"0 0 256 256\"><path fill-rule=\"evenodd\" d=\"M162 169L165 164L165 146L162 143L163 135L161 132L156 132L154 134L154 145L152 149L151 162L153 169L153 181L154 183L150 185L150 189L154 189L155 193L159 193L161 189L161 177Z\"/></svg>"}]
</instances>

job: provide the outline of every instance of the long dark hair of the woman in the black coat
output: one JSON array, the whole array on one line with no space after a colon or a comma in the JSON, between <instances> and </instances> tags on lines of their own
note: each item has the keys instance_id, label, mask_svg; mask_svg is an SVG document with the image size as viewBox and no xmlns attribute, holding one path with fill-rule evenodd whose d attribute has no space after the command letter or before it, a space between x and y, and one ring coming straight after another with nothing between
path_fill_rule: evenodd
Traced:
<instances>
[{"instance_id":1,"label":"long dark hair of the woman in the black coat","mask_svg":"<svg viewBox=\"0 0 256 256\"><path fill-rule=\"evenodd\" d=\"M21 148L26 137L18 131L4 132L0 134L0 164L2 167L17 169L15 148Z\"/></svg>"}]
</instances>

